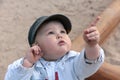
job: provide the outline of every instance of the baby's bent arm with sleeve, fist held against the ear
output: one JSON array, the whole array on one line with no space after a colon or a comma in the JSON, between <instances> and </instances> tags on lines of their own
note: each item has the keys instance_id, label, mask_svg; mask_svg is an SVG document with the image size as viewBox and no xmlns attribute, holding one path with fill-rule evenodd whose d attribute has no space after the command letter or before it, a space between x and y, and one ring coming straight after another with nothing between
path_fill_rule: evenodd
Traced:
<instances>
[{"instance_id":1,"label":"baby's bent arm with sleeve, fist held against the ear","mask_svg":"<svg viewBox=\"0 0 120 80\"><path fill-rule=\"evenodd\" d=\"M8 71L5 75L5 80L30 80L33 71L34 63L42 56L39 46L31 47L24 58L15 61L8 66Z\"/></svg>"}]
</instances>

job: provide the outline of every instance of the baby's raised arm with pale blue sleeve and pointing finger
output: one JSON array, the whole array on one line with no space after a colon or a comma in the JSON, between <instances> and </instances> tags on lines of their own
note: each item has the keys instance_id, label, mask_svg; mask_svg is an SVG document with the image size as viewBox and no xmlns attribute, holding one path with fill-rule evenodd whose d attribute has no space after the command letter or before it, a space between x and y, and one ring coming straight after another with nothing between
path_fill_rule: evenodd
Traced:
<instances>
[{"instance_id":1,"label":"baby's raised arm with pale blue sleeve and pointing finger","mask_svg":"<svg viewBox=\"0 0 120 80\"><path fill-rule=\"evenodd\" d=\"M83 79L94 74L104 62L104 51L98 44L100 33L95 27L96 22L84 30L86 46L74 63L76 75Z\"/></svg>"}]
</instances>

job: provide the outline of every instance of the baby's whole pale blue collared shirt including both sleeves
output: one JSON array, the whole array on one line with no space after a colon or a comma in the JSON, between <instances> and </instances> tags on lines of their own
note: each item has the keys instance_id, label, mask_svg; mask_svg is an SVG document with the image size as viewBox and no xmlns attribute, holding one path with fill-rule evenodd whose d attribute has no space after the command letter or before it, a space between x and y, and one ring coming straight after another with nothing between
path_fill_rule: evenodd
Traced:
<instances>
[{"instance_id":1,"label":"baby's whole pale blue collared shirt including both sleeves","mask_svg":"<svg viewBox=\"0 0 120 80\"><path fill-rule=\"evenodd\" d=\"M84 50L81 53L69 51L57 61L40 59L32 68L22 66L23 58L8 66L5 80L55 80L55 72L59 80L84 80L94 74L104 62L104 51L93 64L87 64Z\"/></svg>"}]
</instances>

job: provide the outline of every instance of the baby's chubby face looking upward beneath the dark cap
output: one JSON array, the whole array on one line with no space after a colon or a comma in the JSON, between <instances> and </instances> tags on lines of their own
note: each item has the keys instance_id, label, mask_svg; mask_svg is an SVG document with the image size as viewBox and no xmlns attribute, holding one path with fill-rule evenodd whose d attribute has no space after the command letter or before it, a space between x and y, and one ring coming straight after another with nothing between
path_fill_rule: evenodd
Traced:
<instances>
[{"instance_id":1,"label":"baby's chubby face looking upward beneath the dark cap","mask_svg":"<svg viewBox=\"0 0 120 80\"><path fill-rule=\"evenodd\" d=\"M36 42L43 52L43 58L51 61L64 56L71 48L71 40L63 25L57 21L44 24L38 30Z\"/></svg>"}]
</instances>

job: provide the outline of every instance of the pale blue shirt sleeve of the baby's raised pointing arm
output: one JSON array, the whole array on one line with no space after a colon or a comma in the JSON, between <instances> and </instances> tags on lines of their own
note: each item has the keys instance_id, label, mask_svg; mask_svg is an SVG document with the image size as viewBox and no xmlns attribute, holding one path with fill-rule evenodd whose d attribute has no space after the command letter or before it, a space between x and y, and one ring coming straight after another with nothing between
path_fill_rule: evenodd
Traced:
<instances>
[{"instance_id":1,"label":"pale blue shirt sleeve of the baby's raised pointing arm","mask_svg":"<svg viewBox=\"0 0 120 80\"><path fill-rule=\"evenodd\" d=\"M91 75L93 75L102 65L104 62L104 51L101 48L100 49L100 56L97 60L93 61L92 64L89 64L88 62L91 62L89 60L85 59L85 50L82 50L82 52L75 58L74 62L74 71L79 79L85 79Z\"/></svg>"}]
</instances>

